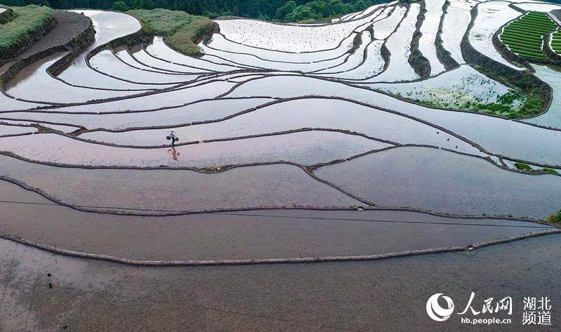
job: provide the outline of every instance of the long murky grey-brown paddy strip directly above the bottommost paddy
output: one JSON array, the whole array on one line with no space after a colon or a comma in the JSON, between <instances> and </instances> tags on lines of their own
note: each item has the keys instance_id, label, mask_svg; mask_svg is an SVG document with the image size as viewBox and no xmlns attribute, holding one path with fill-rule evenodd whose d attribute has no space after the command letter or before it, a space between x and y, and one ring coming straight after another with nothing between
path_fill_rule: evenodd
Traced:
<instances>
[{"instance_id":1,"label":"long murky grey-brown paddy strip directly above the bottommost paddy","mask_svg":"<svg viewBox=\"0 0 561 332\"><path fill-rule=\"evenodd\" d=\"M58 206L0 182L0 230L73 251L135 260L371 255L468 246L547 227L405 211L243 211L138 218ZM34 216L41 215L41 223ZM396 239L401 239L396 241ZM283 246L278 246L282 243Z\"/></svg>"}]
</instances>

